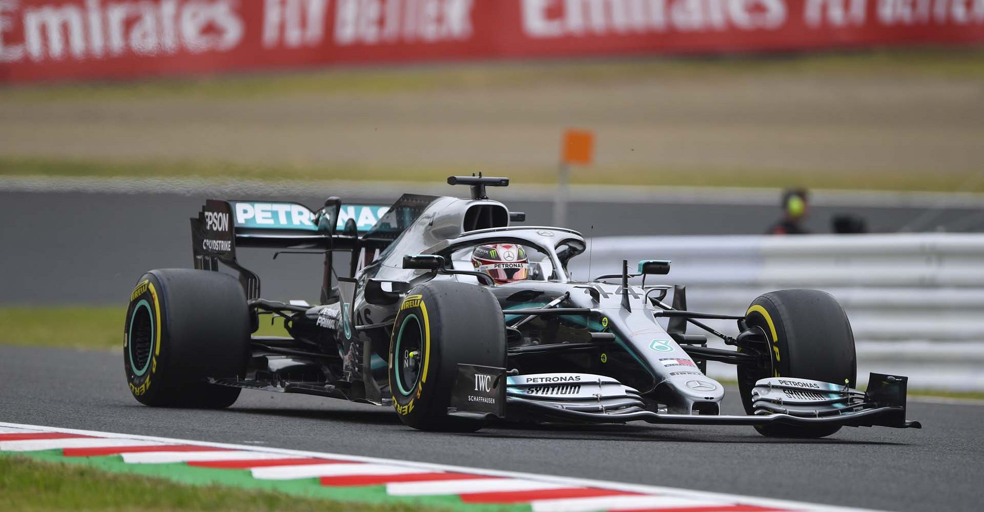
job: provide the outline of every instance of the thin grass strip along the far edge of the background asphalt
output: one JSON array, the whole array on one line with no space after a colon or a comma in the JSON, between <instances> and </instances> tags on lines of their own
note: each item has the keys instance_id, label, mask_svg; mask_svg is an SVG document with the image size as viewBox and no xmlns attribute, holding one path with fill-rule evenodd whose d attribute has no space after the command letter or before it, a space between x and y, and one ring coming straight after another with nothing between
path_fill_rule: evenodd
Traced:
<instances>
[{"instance_id":1,"label":"thin grass strip along the far edge of the background asphalt","mask_svg":"<svg viewBox=\"0 0 984 512\"><path fill-rule=\"evenodd\" d=\"M306 164L245 164L215 160L97 160L0 155L2 176L202 178L208 181L396 180L440 184L461 168L435 169L318 166ZM486 169L486 175L522 177L523 184L552 184L554 168ZM680 187L768 187L811 189L984 192L979 171L937 173L932 180L919 170L782 170L742 168L605 168L573 172L572 183ZM863 177L863 178L861 178Z\"/></svg>"}]
</instances>

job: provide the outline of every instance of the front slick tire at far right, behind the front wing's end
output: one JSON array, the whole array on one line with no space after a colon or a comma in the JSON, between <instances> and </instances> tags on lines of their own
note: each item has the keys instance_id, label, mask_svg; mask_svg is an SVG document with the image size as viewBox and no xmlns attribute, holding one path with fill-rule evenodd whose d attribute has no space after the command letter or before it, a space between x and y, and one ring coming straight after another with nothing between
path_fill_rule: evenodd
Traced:
<instances>
[{"instance_id":1,"label":"front slick tire at far right, behind the front wing's end","mask_svg":"<svg viewBox=\"0 0 984 512\"><path fill-rule=\"evenodd\" d=\"M745 412L753 414L752 388L769 376L810 378L854 387L857 356L854 333L836 299L818 290L780 290L756 299L748 312L750 326L762 327L769 341L772 374L752 366L738 367L738 388ZM824 437L838 426L755 427L772 437Z\"/></svg>"}]
</instances>

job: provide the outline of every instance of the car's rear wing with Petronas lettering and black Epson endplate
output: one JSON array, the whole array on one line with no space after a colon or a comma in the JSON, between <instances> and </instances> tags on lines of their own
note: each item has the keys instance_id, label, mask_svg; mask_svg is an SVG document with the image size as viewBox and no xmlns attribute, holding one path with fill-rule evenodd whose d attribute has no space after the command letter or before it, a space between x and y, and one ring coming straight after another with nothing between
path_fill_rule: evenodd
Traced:
<instances>
[{"instance_id":1,"label":"car's rear wing with Petronas lettering and black Epson endplate","mask_svg":"<svg viewBox=\"0 0 984 512\"><path fill-rule=\"evenodd\" d=\"M325 253L323 299L331 292L332 253L379 249L381 242L359 235L379 229L390 209L382 204L341 204L329 198L312 210L297 202L208 199L191 219L195 268L218 270L218 263L239 272L248 299L260 297L260 278L236 260L237 248L314 250Z\"/></svg>"}]
</instances>

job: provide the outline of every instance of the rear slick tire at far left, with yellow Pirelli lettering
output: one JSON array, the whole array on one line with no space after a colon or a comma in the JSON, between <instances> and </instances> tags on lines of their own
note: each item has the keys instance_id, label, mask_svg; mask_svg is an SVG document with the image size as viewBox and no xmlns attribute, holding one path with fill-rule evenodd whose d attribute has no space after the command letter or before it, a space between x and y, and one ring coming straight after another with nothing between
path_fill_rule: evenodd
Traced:
<instances>
[{"instance_id":1,"label":"rear slick tire at far left, with yellow Pirelli lettering","mask_svg":"<svg viewBox=\"0 0 984 512\"><path fill-rule=\"evenodd\" d=\"M156 407L218 409L240 389L206 377L241 377L249 358L250 321L239 282L209 270L151 270L130 295L123 330L130 392Z\"/></svg>"}]
</instances>

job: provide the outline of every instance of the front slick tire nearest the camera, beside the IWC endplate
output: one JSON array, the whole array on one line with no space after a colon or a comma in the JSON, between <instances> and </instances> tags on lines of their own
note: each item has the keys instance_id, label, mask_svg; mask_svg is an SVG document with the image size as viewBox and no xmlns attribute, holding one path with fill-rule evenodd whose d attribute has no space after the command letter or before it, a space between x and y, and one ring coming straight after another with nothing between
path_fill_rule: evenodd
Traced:
<instances>
[{"instance_id":1,"label":"front slick tire nearest the camera, beside the IWC endplate","mask_svg":"<svg viewBox=\"0 0 984 512\"><path fill-rule=\"evenodd\" d=\"M475 431L480 420L448 416L458 365L506 366L506 327L488 289L430 281L407 292L393 326L390 391L403 424Z\"/></svg>"}]
</instances>

